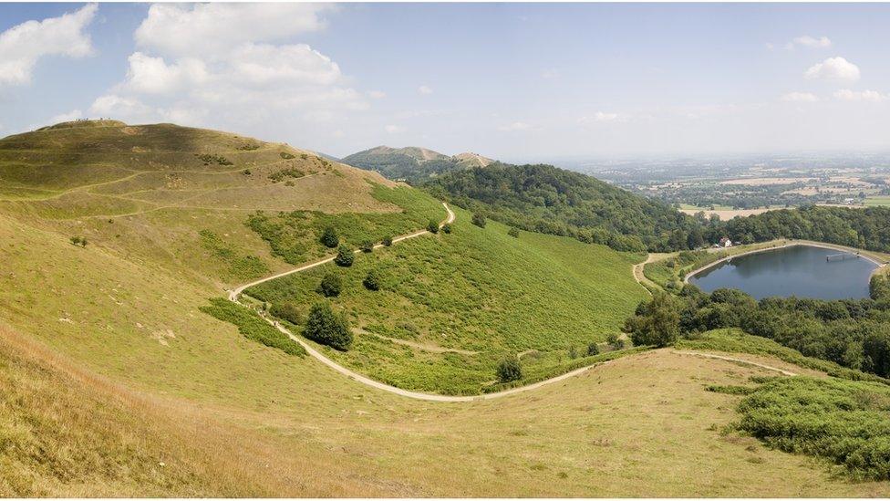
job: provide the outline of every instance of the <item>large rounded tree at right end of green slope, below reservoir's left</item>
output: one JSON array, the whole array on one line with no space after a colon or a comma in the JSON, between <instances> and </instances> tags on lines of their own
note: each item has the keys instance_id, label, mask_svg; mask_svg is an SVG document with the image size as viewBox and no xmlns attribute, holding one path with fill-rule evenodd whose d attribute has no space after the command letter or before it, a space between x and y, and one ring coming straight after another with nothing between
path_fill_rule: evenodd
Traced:
<instances>
[{"instance_id":1,"label":"large rounded tree at right end of green slope, below reservoir's left","mask_svg":"<svg viewBox=\"0 0 890 501\"><path fill-rule=\"evenodd\" d=\"M670 346L680 332L680 302L664 292L636 308L636 315L627 318L625 331L635 346Z\"/></svg>"}]
</instances>

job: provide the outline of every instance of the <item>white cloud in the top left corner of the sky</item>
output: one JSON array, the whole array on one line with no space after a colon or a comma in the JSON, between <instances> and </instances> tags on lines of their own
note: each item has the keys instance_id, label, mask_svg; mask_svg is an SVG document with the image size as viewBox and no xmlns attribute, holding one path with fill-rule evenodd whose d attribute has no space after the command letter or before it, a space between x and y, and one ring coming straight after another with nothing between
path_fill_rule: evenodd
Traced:
<instances>
[{"instance_id":1,"label":"white cloud in the top left corner of the sky","mask_svg":"<svg viewBox=\"0 0 890 501\"><path fill-rule=\"evenodd\" d=\"M93 53L84 29L96 16L98 6L85 5L74 13L27 21L0 33L0 86L31 81L41 57L87 57Z\"/></svg>"}]
</instances>

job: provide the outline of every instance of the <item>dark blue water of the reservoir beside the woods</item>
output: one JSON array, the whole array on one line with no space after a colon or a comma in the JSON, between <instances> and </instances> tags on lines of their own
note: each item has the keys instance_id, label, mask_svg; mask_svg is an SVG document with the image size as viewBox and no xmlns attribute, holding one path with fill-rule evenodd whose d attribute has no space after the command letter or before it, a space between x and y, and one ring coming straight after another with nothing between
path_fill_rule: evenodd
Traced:
<instances>
[{"instance_id":1,"label":"dark blue water of the reservoir beside the woods","mask_svg":"<svg viewBox=\"0 0 890 501\"><path fill-rule=\"evenodd\" d=\"M853 253L792 245L733 257L689 277L689 283L705 292L737 288L756 299L858 299L868 297L868 281L876 267L873 261Z\"/></svg>"}]
</instances>

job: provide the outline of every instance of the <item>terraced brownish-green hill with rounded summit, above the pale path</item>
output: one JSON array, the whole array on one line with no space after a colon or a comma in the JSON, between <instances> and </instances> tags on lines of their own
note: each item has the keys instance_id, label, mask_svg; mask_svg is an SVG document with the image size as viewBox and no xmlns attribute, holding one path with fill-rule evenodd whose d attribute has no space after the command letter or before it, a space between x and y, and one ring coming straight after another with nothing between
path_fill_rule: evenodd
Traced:
<instances>
[{"instance_id":1,"label":"terraced brownish-green hill with rounded summit, above the pale path","mask_svg":"<svg viewBox=\"0 0 890 501\"><path fill-rule=\"evenodd\" d=\"M441 212L423 193L315 153L164 124L10 136L0 140L0 186L0 212L218 286L279 270L283 254L320 256L326 224L358 245ZM276 253L281 232L299 243Z\"/></svg>"}]
</instances>

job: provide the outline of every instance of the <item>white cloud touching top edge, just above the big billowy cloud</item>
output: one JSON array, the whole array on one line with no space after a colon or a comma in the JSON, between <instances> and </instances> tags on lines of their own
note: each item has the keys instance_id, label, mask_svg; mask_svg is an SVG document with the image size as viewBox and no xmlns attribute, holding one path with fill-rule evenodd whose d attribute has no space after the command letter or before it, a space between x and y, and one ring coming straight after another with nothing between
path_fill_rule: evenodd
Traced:
<instances>
[{"instance_id":1,"label":"white cloud touching top edge, just above the big billowy cloud","mask_svg":"<svg viewBox=\"0 0 890 501\"><path fill-rule=\"evenodd\" d=\"M245 43L324 29L325 4L154 4L136 29L140 47L175 56L223 57Z\"/></svg>"}]
</instances>

